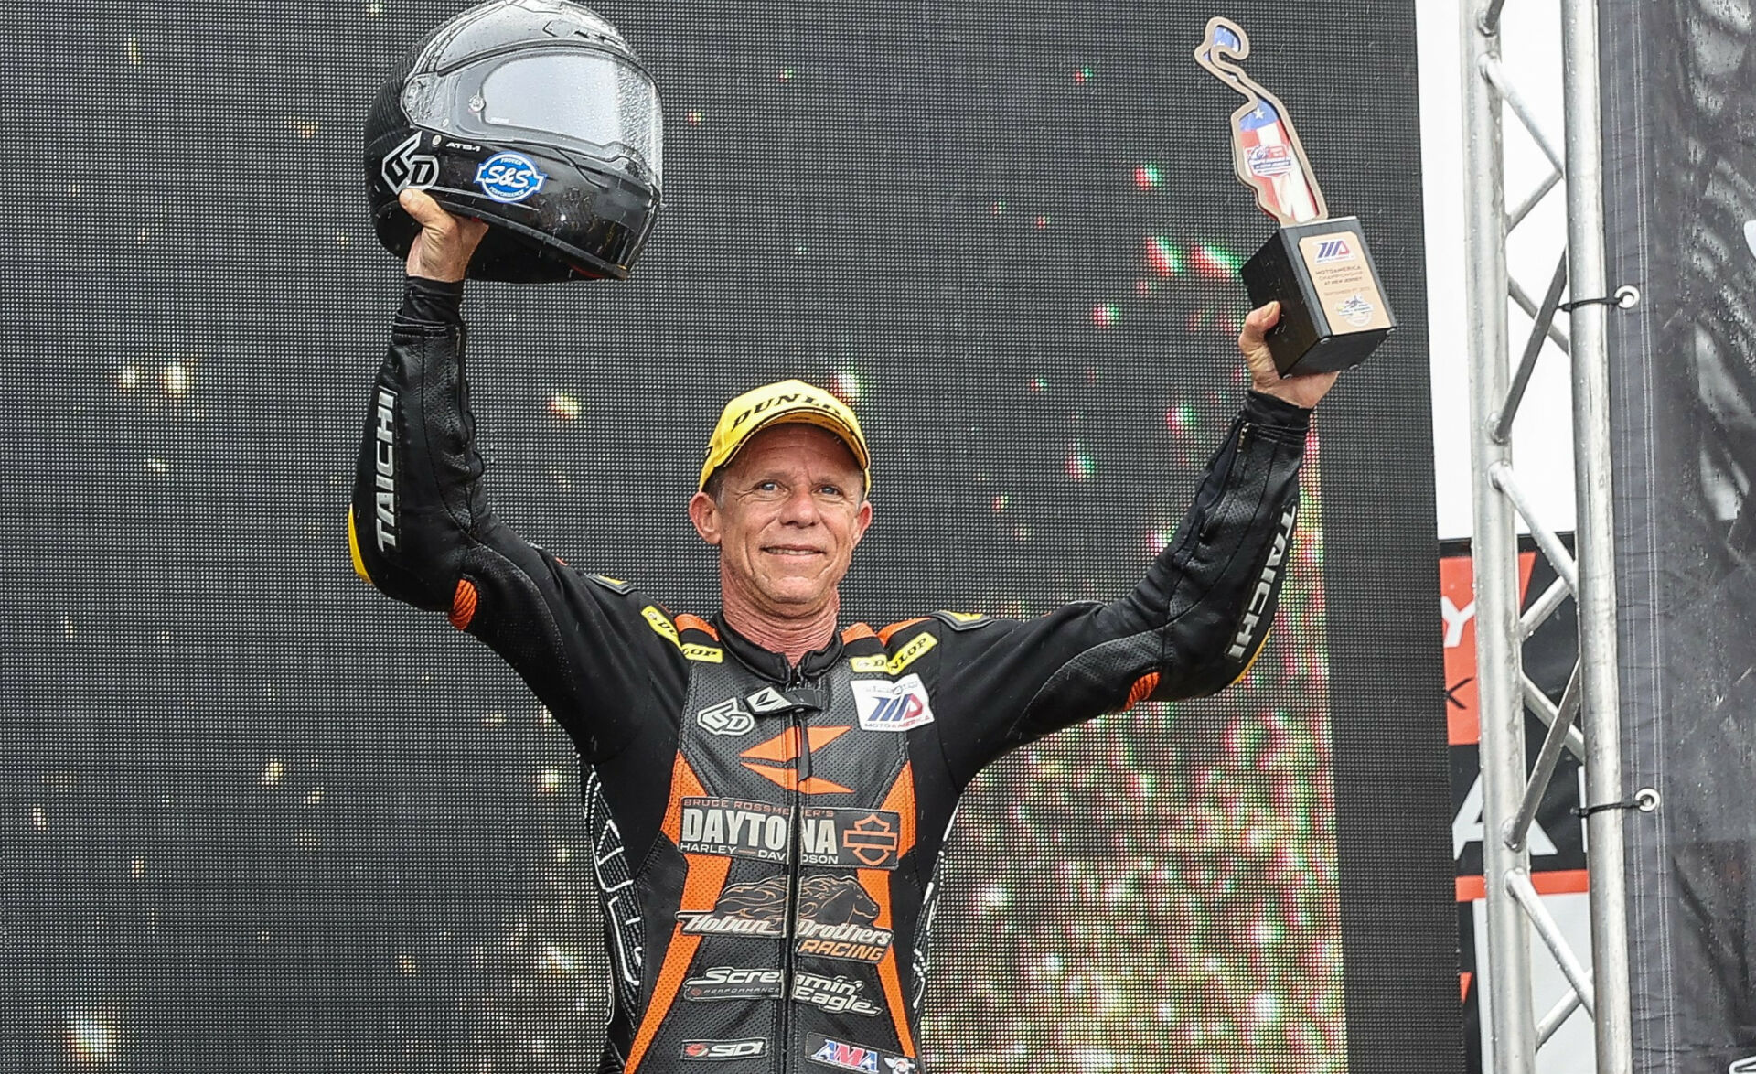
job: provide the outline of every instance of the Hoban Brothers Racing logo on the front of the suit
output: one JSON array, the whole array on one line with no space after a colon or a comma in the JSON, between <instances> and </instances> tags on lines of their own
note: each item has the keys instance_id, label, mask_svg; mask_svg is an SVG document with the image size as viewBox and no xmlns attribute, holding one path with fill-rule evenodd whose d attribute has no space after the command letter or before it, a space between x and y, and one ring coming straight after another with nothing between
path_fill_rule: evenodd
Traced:
<instances>
[{"instance_id":1,"label":"Hoban Brothers Racing logo on the front of the suit","mask_svg":"<svg viewBox=\"0 0 1756 1074\"><path fill-rule=\"evenodd\" d=\"M685 935L748 935L781 939L787 919L787 877L730 884L711 911L678 911ZM890 949L892 932L874 928L878 902L853 877L817 874L799 881L795 954L846 958L876 965Z\"/></svg>"}]
</instances>

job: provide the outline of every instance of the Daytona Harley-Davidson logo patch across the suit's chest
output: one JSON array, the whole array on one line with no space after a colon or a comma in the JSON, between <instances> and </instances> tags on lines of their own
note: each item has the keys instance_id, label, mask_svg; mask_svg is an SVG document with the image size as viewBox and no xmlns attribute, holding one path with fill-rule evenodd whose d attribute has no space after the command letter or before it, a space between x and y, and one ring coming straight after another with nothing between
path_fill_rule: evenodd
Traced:
<instances>
[{"instance_id":1,"label":"Daytona Harley-Davidson logo patch across the suit's chest","mask_svg":"<svg viewBox=\"0 0 1756 1074\"><path fill-rule=\"evenodd\" d=\"M885 809L804 809L799 861L831 868L896 868L903 819ZM792 845L788 809L734 798L683 798L685 854L785 863Z\"/></svg>"}]
</instances>

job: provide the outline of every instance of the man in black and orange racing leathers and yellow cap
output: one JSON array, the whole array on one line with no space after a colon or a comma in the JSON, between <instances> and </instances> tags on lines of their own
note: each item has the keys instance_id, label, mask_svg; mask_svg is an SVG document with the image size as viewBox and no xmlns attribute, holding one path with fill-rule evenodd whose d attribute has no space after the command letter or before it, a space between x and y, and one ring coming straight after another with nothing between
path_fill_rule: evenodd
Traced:
<instances>
[{"instance_id":1,"label":"man in black and orange racing leathers and yellow cap","mask_svg":"<svg viewBox=\"0 0 1756 1074\"><path fill-rule=\"evenodd\" d=\"M952 809L1010 749L1141 700L1210 694L1263 645L1308 408L1254 311L1254 390L1177 540L1113 603L1031 620L838 620L871 522L866 441L785 381L734 399L688 513L722 608L678 615L488 510L464 378L462 279L485 225L420 192L407 285L367 411L355 568L495 649L588 765L615 972L601 1070L869 1070L918 1062L927 893ZM709 1067L709 1069L715 1069Z\"/></svg>"}]
</instances>

